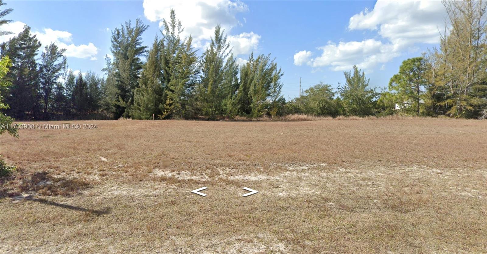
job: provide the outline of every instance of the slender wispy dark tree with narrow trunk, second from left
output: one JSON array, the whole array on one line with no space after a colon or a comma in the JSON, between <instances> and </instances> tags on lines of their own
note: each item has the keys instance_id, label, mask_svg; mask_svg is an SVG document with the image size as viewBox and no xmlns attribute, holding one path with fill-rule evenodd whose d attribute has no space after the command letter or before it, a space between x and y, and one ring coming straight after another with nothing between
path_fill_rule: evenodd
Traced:
<instances>
[{"instance_id":1,"label":"slender wispy dark tree with narrow trunk, second from left","mask_svg":"<svg viewBox=\"0 0 487 254\"><path fill-rule=\"evenodd\" d=\"M51 43L45 47L41 55L41 65L39 70L40 88L43 105L43 118L49 119L48 108L52 99L52 91L56 86L57 79L61 76L61 71L66 66L66 57L63 57L66 49L59 49L56 44Z\"/></svg>"}]
</instances>

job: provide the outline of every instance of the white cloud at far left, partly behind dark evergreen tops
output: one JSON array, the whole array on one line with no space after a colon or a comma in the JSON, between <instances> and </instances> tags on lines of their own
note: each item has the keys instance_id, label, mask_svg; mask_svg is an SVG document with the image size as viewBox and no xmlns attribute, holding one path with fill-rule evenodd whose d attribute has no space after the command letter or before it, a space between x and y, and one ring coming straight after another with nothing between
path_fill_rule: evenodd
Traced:
<instances>
[{"instance_id":1,"label":"white cloud at far left, partly behind dark evergreen tops","mask_svg":"<svg viewBox=\"0 0 487 254\"><path fill-rule=\"evenodd\" d=\"M25 23L15 21L7 23L2 26L3 31L10 31L13 34L0 36L0 42L8 41L14 36L17 36L24 30ZM53 30L51 28L44 28L42 32L32 31L36 35L37 39L42 43L42 46L48 46L51 43L55 43L59 48L65 48L66 57L74 58L90 58L96 60L96 54L98 54L98 48L92 43L75 45L72 42L73 35L67 31Z\"/></svg>"}]
</instances>

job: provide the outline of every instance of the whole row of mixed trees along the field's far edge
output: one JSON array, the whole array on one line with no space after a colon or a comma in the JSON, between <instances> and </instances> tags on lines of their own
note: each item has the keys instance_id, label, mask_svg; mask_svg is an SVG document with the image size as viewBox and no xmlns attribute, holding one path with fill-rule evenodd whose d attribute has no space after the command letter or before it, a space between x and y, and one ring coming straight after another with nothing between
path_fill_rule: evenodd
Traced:
<instances>
[{"instance_id":1,"label":"whole row of mixed trees along the field's far edge","mask_svg":"<svg viewBox=\"0 0 487 254\"><path fill-rule=\"evenodd\" d=\"M4 5L0 1L1 5ZM1 6L0 5L0 6ZM112 58L104 76L75 75L55 44L44 47L30 27L0 45L9 59L0 89L2 112L16 119L232 119L406 114L478 118L487 115L486 4L445 1L448 25L440 45L405 60L387 89L377 91L356 66L344 72L344 85L319 83L299 98L281 94L283 75L270 55L237 64L225 31L215 27L201 56L173 10L150 47L141 20L127 21L111 37ZM11 9L0 12L0 18ZM9 20L0 20L0 25ZM5 34L7 32L1 32Z\"/></svg>"}]
</instances>

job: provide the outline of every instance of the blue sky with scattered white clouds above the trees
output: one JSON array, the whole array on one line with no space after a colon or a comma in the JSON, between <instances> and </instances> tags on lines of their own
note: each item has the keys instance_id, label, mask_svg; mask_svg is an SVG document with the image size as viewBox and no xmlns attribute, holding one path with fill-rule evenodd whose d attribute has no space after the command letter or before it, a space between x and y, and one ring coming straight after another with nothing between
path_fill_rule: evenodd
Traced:
<instances>
[{"instance_id":1,"label":"blue sky with scattered white clouds above the trees","mask_svg":"<svg viewBox=\"0 0 487 254\"><path fill-rule=\"evenodd\" d=\"M13 23L3 30L18 33L31 26L43 45L67 48L71 69L102 74L110 55L111 30L139 18L150 25L143 38L150 45L160 35L160 20L176 18L194 37L202 53L211 30L221 24L239 62L271 54L284 76L282 93L294 98L302 87L323 81L343 83L343 71L356 64L385 87L404 59L437 45L444 22L440 1L6 1ZM1 41L8 36L0 37Z\"/></svg>"}]
</instances>

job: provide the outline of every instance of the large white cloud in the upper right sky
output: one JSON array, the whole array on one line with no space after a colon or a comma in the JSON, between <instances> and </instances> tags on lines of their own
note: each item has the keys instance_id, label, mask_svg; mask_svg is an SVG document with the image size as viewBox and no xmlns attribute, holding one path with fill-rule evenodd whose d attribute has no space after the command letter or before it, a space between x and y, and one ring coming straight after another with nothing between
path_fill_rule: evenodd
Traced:
<instances>
[{"instance_id":1,"label":"large white cloud in the upper right sky","mask_svg":"<svg viewBox=\"0 0 487 254\"><path fill-rule=\"evenodd\" d=\"M296 53L294 64L329 66L335 71L348 70L357 65L370 70L400 56L402 52L417 48L415 43L438 43L438 27L443 25L445 15L441 1L378 0L372 11L365 9L352 16L348 28L377 31L381 40L328 42L318 48L322 53L317 58L306 59L310 54L305 53L309 51Z\"/></svg>"}]
</instances>

